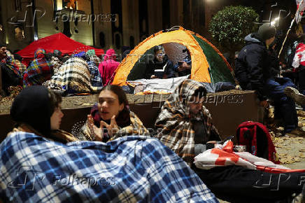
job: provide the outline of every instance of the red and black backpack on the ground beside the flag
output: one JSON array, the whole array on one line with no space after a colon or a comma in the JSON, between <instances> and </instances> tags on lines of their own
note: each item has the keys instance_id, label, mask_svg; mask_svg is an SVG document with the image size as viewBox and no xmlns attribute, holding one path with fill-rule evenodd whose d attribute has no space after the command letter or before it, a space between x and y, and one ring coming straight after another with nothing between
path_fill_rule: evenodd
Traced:
<instances>
[{"instance_id":1,"label":"red and black backpack on the ground beside the flag","mask_svg":"<svg viewBox=\"0 0 305 203\"><path fill-rule=\"evenodd\" d=\"M246 121L236 131L238 145L246 146L248 153L280 164L276 158L276 148L266 126L262 123Z\"/></svg>"}]
</instances>

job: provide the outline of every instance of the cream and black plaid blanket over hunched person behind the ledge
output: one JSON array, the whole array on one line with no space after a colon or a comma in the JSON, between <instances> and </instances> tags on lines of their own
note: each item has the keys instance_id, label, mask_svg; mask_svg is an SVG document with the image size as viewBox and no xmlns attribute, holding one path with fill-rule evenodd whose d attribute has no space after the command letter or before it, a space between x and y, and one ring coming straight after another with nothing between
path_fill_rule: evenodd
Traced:
<instances>
[{"instance_id":1,"label":"cream and black plaid blanket over hunched person behind the ledge","mask_svg":"<svg viewBox=\"0 0 305 203\"><path fill-rule=\"evenodd\" d=\"M92 87L87 62L80 57L72 57L59 67L49 84L61 86L67 93L94 92L99 87ZM101 88L101 87L100 87Z\"/></svg>"}]
</instances>

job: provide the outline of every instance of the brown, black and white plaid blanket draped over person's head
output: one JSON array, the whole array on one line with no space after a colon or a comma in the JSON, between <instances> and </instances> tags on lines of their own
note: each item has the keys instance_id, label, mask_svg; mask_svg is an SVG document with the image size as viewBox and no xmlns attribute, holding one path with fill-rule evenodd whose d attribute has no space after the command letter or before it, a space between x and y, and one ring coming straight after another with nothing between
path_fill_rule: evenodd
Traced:
<instances>
[{"instance_id":1,"label":"brown, black and white plaid blanket draped over person's head","mask_svg":"<svg viewBox=\"0 0 305 203\"><path fill-rule=\"evenodd\" d=\"M218 130L212 123L211 114L205 106L197 115L190 113L187 102L192 99L196 90L204 87L194 80L184 80L171 97L164 102L155 127L160 129L157 138L172 151L177 153L188 165L194 161L194 130L191 120L202 120L206 127L207 140L220 140Z\"/></svg>"}]
</instances>

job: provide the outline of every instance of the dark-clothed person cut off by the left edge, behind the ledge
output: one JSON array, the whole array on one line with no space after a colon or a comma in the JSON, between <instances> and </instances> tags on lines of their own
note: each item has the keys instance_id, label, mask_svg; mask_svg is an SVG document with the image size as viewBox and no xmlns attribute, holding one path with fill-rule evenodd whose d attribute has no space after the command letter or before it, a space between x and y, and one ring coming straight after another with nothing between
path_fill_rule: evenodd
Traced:
<instances>
[{"instance_id":1,"label":"dark-clothed person cut off by the left edge, behind the ledge","mask_svg":"<svg viewBox=\"0 0 305 203\"><path fill-rule=\"evenodd\" d=\"M8 87L22 85L22 73L15 60L9 56L5 45L0 45L0 66L2 88L5 94L9 94Z\"/></svg>"}]
</instances>

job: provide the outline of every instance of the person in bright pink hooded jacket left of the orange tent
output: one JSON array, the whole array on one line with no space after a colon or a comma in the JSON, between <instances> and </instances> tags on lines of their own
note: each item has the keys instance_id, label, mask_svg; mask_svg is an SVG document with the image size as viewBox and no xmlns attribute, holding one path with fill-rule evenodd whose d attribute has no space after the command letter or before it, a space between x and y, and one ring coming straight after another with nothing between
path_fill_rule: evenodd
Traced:
<instances>
[{"instance_id":1,"label":"person in bright pink hooded jacket left of the orange tent","mask_svg":"<svg viewBox=\"0 0 305 203\"><path fill-rule=\"evenodd\" d=\"M115 77L115 70L119 65L120 62L116 61L115 50L108 49L104 55L104 61L99 64L99 73L101 73L104 86L111 85Z\"/></svg>"}]
</instances>

